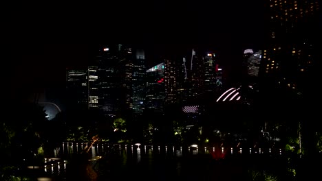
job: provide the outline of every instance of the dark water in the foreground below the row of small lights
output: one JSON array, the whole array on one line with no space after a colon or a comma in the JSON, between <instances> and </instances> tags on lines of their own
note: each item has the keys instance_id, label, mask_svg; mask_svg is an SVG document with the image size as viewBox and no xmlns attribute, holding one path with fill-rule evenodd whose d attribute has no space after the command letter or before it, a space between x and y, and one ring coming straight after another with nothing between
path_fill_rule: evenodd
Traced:
<instances>
[{"instance_id":1,"label":"dark water in the foreground below the row of small lights","mask_svg":"<svg viewBox=\"0 0 322 181\"><path fill-rule=\"evenodd\" d=\"M63 143L44 167L50 180L250 180L252 170L283 175L280 149ZM50 158L48 158L50 159ZM48 160L47 160L48 161ZM48 163L48 162L47 162Z\"/></svg>"}]
</instances>

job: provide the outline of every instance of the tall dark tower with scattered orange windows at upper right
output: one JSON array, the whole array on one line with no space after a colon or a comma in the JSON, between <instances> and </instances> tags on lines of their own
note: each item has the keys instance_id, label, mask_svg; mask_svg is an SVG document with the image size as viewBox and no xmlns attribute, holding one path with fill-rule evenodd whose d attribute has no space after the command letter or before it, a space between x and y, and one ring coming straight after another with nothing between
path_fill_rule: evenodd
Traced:
<instances>
[{"instance_id":1,"label":"tall dark tower with scattered orange windows at upper right","mask_svg":"<svg viewBox=\"0 0 322 181\"><path fill-rule=\"evenodd\" d=\"M265 77L301 94L314 69L319 47L317 0L270 0L266 3Z\"/></svg>"}]
</instances>

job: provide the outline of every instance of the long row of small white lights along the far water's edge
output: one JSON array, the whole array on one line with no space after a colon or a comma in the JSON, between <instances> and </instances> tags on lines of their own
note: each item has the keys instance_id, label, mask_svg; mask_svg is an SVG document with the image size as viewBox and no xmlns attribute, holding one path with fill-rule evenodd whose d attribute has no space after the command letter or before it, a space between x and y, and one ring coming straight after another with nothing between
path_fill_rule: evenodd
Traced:
<instances>
[{"instance_id":1,"label":"long row of small white lights along the far water's edge","mask_svg":"<svg viewBox=\"0 0 322 181\"><path fill-rule=\"evenodd\" d=\"M72 143L65 142L61 147L55 151L56 156L63 156L67 154L74 154L82 152L85 147L91 143ZM211 154L215 152L222 152L222 154L272 154L281 155L283 150L281 148L261 148L261 147L200 147L198 145L190 145L186 147L173 145L141 145L136 143L134 145L127 144L109 144L97 143L89 149L93 156L104 155L107 152L129 152L133 154L147 154L152 152L154 154L175 154L181 156L182 154Z\"/></svg>"}]
</instances>

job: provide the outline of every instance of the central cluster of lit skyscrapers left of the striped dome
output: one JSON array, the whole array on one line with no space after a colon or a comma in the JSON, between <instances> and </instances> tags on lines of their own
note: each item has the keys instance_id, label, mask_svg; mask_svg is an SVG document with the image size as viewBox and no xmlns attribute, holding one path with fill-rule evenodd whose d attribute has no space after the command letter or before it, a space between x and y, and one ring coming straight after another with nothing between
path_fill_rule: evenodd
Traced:
<instances>
[{"instance_id":1,"label":"central cluster of lit skyscrapers left of the striped dome","mask_svg":"<svg viewBox=\"0 0 322 181\"><path fill-rule=\"evenodd\" d=\"M189 62L189 63L188 63ZM147 67L142 49L101 47L87 69L67 69L69 108L98 109L106 115L164 112L171 104L189 104L222 87L215 54L165 59Z\"/></svg>"}]
</instances>

